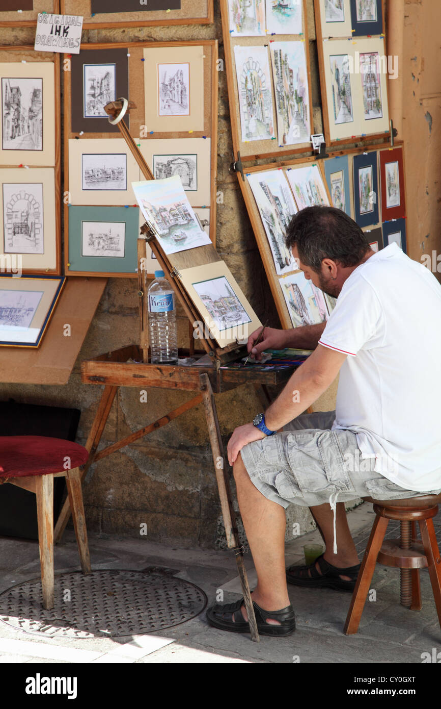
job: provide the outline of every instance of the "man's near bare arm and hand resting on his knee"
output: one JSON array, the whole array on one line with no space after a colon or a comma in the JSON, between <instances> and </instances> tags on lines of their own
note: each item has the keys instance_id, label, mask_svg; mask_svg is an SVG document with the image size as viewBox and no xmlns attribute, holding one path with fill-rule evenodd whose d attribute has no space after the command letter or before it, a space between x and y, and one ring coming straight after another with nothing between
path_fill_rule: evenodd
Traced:
<instances>
[{"instance_id":1,"label":"man's near bare arm and hand resting on his knee","mask_svg":"<svg viewBox=\"0 0 441 709\"><path fill-rule=\"evenodd\" d=\"M267 428L276 431L303 413L336 379L346 357L342 352L318 345L306 362L296 369L285 389L265 412ZM227 447L230 465L244 445L264 437L265 434L252 423L236 428Z\"/></svg>"}]
</instances>

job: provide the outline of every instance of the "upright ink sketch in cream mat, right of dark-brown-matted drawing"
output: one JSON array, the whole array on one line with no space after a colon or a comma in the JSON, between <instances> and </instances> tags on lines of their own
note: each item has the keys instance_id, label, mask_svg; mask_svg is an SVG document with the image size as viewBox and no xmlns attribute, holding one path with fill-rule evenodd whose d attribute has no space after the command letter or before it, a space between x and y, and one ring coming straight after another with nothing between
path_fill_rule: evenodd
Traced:
<instances>
[{"instance_id":1,"label":"upright ink sketch in cream mat, right of dark-brown-matted drawing","mask_svg":"<svg viewBox=\"0 0 441 709\"><path fill-rule=\"evenodd\" d=\"M158 64L158 115L190 116L190 64Z\"/></svg>"}]
</instances>

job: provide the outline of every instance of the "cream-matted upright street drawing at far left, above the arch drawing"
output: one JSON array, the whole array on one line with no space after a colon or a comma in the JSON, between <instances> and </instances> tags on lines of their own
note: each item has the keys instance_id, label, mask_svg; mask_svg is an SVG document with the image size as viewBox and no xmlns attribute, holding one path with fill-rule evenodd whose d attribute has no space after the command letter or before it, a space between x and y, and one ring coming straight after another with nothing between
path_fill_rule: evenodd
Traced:
<instances>
[{"instance_id":1,"label":"cream-matted upright street drawing at far left, above the arch drawing","mask_svg":"<svg viewBox=\"0 0 441 709\"><path fill-rule=\"evenodd\" d=\"M54 82L52 62L0 64L1 164L55 164Z\"/></svg>"}]
</instances>

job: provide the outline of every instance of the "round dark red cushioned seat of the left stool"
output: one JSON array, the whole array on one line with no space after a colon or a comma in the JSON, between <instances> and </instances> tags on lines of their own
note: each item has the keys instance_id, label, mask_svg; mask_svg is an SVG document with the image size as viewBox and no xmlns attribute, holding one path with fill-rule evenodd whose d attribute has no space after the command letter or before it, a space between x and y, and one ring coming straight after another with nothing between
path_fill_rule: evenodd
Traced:
<instances>
[{"instance_id":1,"label":"round dark red cushioned seat of the left stool","mask_svg":"<svg viewBox=\"0 0 441 709\"><path fill-rule=\"evenodd\" d=\"M47 475L84 465L79 443L47 436L0 436L0 478Z\"/></svg>"}]
</instances>

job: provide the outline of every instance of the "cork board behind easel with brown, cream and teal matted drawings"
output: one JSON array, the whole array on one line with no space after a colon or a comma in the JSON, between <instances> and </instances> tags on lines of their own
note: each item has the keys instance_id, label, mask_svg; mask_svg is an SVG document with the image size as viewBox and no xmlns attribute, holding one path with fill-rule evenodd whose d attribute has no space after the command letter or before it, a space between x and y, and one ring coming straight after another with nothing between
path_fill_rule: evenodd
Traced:
<instances>
[{"instance_id":1,"label":"cork board behind easel with brown, cream and teal matted drawings","mask_svg":"<svg viewBox=\"0 0 441 709\"><path fill-rule=\"evenodd\" d=\"M217 40L137 42L130 45L90 43L81 45L80 55L66 55L66 59L70 67L69 71L64 72L66 274L112 277L137 275L137 259L134 258L134 252L130 249L132 258L125 247L129 245L127 239L130 239L130 244L133 239L136 240L134 223L139 223L139 208L131 182L145 178L125 145L118 125L111 125L103 111L105 104L121 96L134 104L123 120L151 172L156 172L156 177L181 174L183 181L185 176L188 177L184 189L189 190L187 195L195 211L203 211L202 226L209 227L210 238L214 242ZM194 100L194 86L202 88L202 91L198 91L198 101ZM151 120L152 112L155 113L154 124ZM178 114L176 118L173 118L173 113ZM176 130L176 122L180 125L180 116L185 118L185 130ZM111 147L113 143L114 149ZM105 157L106 151L108 157ZM198 171L197 179L193 172L189 177L190 170ZM136 179L133 179L134 176ZM93 229L89 230L88 235L78 233L79 225L83 225L79 218L79 208L86 205L88 225L96 222L98 233ZM103 221L102 208L105 205L112 205L114 210L118 207L125 209L125 213L121 213L126 218L122 220L118 213L118 219L115 220L118 225L103 242L104 232L99 225ZM69 219L69 212L73 213L73 208L75 217ZM93 208L96 208L95 218ZM136 212L136 218L132 217L132 212ZM76 225L74 234L69 233L69 223ZM81 226L81 229L84 227ZM106 252L109 239L114 246L119 247L118 253L110 255L108 250ZM114 257L110 262L103 259L102 271L97 266L101 255L97 252L98 244L102 255ZM90 255L94 258L89 259ZM148 256L147 263L153 276L156 264L150 253ZM105 263L111 264L111 268L105 270ZM120 269L117 264L121 265Z\"/></svg>"}]
</instances>

